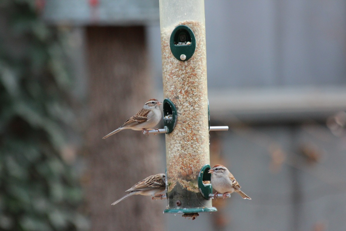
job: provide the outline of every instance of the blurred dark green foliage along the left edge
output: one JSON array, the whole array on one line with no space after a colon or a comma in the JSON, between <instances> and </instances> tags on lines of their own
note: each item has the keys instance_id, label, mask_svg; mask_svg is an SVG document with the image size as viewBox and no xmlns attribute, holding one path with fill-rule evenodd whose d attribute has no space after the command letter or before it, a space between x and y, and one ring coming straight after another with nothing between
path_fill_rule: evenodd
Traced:
<instances>
[{"instance_id":1,"label":"blurred dark green foliage along the left edge","mask_svg":"<svg viewBox=\"0 0 346 231\"><path fill-rule=\"evenodd\" d=\"M61 33L36 11L0 1L0 230L87 230L78 171L62 158L73 79Z\"/></svg>"}]
</instances>

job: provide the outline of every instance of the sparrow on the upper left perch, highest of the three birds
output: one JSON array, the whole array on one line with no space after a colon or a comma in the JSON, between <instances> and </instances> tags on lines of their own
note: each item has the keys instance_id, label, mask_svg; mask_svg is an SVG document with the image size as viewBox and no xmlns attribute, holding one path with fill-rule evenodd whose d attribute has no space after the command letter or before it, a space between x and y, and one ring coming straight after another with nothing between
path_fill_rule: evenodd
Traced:
<instances>
[{"instance_id":1,"label":"sparrow on the upper left perch, highest of the three birds","mask_svg":"<svg viewBox=\"0 0 346 231\"><path fill-rule=\"evenodd\" d=\"M156 124L161 121L161 104L162 102L158 101L157 99L149 99L136 115L129 118L125 124L104 136L102 139L106 139L108 136L111 136L124 129L140 131L156 126Z\"/></svg>"}]
</instances>

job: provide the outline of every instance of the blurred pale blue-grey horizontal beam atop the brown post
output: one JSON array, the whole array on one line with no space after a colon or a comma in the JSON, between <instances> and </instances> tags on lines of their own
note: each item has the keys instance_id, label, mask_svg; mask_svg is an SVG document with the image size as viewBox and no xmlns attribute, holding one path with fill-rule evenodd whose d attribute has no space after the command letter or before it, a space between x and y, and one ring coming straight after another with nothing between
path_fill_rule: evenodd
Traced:
<instances>
[{"instance_id":1,"label":"blurred pale blue-grey horizontal beam atop the brown post","mask_svg":"<svg viewBox=\"0 0 346 231\"><path fill-rule=\"evenodd\" d=\"M158 1L46 0L43 18L54 24L71 25L148 25L158 24Z\"/></svg>"}]
</instances>

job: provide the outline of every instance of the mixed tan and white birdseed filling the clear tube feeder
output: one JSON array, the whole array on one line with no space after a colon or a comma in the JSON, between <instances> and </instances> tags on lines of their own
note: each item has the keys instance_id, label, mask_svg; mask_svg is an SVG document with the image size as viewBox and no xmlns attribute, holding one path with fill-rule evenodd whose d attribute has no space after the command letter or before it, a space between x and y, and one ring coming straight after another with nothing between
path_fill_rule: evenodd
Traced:
<instances>
[{"instance_id":1,"label":"mixed tan and white birdseed filling the clear tube feeder","mask_svg":"<svg viewBox=\"0 0 346 231\"><path fill-rule=\"evenodd\" d=\"M178 25L195 35L196 49L189 60L177 60L170 48L170 36ZM177 109L177 123L166 135L167 191L179 183L199 193L197 178L209 164L208 94L205 27L198 21L184 21L161 31L164 97Z\"/></svg>"}]
</instances>

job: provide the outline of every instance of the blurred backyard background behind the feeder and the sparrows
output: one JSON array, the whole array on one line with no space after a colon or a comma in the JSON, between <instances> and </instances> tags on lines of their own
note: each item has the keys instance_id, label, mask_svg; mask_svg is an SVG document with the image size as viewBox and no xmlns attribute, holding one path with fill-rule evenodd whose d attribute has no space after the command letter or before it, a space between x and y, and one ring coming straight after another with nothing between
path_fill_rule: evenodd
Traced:
<instances>
[{"instance_id":1,"label":"blurred backyard background behind the feeder and the sparrows","mask_svg":"<svg viewBox=\"0 0 346 231\"><path fill-rule=\"evenodd\" d=\"M157 0L0 1L0 230L344 230L346 1L206 0L211 165L252 200L192 221L134 196L164 135ZM162 127L163 124L160 124Z\"/></svg>"}]
</instances>

